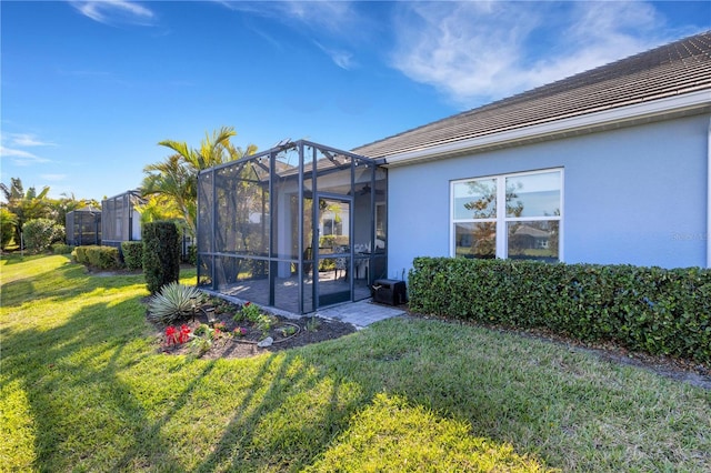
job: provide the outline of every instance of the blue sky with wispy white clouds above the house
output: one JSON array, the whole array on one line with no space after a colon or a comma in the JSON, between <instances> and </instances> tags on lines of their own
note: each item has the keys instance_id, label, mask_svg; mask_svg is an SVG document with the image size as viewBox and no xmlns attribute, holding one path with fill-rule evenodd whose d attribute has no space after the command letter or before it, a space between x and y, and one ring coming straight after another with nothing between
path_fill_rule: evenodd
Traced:
<instances>
[{"instance_id":1,"label":"blue sky with wispy white clouds above the house","mask_svg":"<svg viewBox=\"0 0 711 473\"><path fill-rule=\"evenodd\" d=\"M711 29L708 1L2 1L1 181L112 197L231 125L352 149Z\"/></svg>"}]
</instances>

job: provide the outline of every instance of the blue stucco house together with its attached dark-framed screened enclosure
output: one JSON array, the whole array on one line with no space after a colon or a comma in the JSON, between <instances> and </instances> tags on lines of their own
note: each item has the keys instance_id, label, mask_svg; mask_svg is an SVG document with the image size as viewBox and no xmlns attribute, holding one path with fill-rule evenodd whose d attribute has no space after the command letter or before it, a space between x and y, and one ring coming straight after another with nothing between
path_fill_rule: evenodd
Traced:
<instances>
[{"instance_id":1,"label":"blue stucco house together with its attached dark-framed screened enclosure","mask_svg":"<svg viewBox=\"0 0 711 473\"><path fill-rule=\"evenodd\" d=\"M704 32L351 152L280 143L200 173L198 283L308 313L423 255L711 266L710 141Z\"/></svg>"}]
</instances>

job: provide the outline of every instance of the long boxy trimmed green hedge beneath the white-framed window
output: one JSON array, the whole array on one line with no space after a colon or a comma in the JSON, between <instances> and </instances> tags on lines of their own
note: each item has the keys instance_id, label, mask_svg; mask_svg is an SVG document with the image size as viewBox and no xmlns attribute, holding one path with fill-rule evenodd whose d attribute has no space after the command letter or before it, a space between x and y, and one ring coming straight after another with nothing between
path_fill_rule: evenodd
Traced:
<instances>
[{"instance_id":1,"label":"long boxy trimmed green hedge beneath the white-framed window","mask_svg":"<svg viewBox=\"0 0 711 473\"><path fill-rule=\"evenodd\" d=\"M410 309L711 361L711 270L417 258Z\"/></svg>"}]
</instances>

